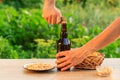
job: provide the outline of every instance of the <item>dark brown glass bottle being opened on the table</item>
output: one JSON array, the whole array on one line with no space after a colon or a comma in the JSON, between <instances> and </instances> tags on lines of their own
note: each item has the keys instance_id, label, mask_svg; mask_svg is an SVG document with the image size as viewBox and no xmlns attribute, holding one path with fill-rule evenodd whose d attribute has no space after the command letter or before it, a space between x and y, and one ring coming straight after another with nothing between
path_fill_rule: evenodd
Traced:
<instances>
[{"instance_id":1,"label":"dark brown glass bottle being opened on the table","mask_svg":"<svg viewBox=\"0 0 120 80\"><path fill-rule=\"evenodd\" d=\"M57 41L57 53L60 51L70 50L71 43L67 37L68 37L67 24L65 21L63 21L61 24L60 39ZM62 57L64 57L64 56L62 56ZM60 57L60 58L62 58L62 57ZM59 68L58 70L61 70L61 69ZM70 70L70 69L68 69L68 70Z\"/></svg>"}]
</instances>

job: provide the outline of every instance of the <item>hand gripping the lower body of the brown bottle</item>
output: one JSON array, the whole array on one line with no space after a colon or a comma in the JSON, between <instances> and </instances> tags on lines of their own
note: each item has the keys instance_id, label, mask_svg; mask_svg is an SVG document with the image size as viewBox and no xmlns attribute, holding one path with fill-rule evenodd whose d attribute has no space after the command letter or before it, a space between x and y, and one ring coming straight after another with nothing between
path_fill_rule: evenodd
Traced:
<instances>
[{"instance_id":1,"label":"hand gripping the lower body of the brown bottle","mask_svg":"<svg viewBox=\"0 0 120 80\"><path fill-rule=\"evenodd\" d=\"M81 63L88 55L88 51L83 48L76 48L69 51L62 51L56 55L57 68L61 68L61 71L65 71L72 66L76 66ZM62 57L58 59L59 57Z\"/></svg>"}]
</instances>

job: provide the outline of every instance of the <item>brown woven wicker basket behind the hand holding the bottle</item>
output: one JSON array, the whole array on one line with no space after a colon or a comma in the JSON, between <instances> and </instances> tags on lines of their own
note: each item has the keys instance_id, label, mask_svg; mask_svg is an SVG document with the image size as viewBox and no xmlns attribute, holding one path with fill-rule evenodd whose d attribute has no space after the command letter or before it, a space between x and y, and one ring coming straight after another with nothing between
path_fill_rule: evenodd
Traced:
<instances>
[{"instance_id":1,"label":"brown woven wicker basket behind the hand holding the bottle","mask_svg":"<svg viewBox=\"0 0 120 80\"><path fill-rule=\"evenodd\" d=\"M83 60L82 63L75 66L78 69L96 69L96 66L100 66L104 60L104 54L99 52L94 52L89 54L87 58Z\"/></svg>"}]
</instances>

